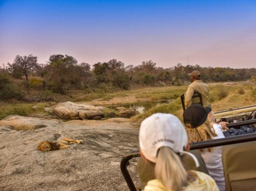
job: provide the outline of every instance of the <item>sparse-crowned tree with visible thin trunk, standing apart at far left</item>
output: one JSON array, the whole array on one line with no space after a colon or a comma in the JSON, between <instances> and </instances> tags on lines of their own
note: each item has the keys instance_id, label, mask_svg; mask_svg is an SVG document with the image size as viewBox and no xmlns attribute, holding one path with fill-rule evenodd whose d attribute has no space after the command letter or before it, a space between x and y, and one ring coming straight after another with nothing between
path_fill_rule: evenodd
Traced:
<instances>
[{"instance_id":1,"label":"sparse-crowned tree with visible thin trunk, standing apart at far left","mask_svg":"<svg viewBox=\"0 0 256 191\"><path fill-rule=\"evenodd\" d=\"M36 67L37 57L32 54L28 56L17 55L13 64L20 66L21 71L26 76L26 86L28 87L28 71Z\"/></svg>"}]
</instances>

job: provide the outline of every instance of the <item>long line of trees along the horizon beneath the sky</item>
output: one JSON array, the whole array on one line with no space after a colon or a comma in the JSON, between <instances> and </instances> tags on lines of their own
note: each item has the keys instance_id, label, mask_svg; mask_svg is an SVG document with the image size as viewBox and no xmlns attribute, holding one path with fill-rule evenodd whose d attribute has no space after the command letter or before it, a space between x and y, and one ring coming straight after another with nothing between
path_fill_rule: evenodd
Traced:
<instances>
[{"instance_id":1,"label":"long line of trees along the horizon beneath the sky","mask_svg":"<svg viewBox=\"0 0 256 191\"><path fill-rule=\"evenodd\" d=\"M23 80L25 88L39 88L65 94L70 89L107 87L129 89L131 86L183 85L187 75L198 70L205 82L242 81L256 74L256 68L233 69L230 67L202 67L176 64L158 67L153 61L127 65L116 59L98 62L92 66L70 55L50 55L46 64L38 64L37 57L17 55L13 63L0 67L0 90L16 80Z\"/></svg>"}]
</instances>

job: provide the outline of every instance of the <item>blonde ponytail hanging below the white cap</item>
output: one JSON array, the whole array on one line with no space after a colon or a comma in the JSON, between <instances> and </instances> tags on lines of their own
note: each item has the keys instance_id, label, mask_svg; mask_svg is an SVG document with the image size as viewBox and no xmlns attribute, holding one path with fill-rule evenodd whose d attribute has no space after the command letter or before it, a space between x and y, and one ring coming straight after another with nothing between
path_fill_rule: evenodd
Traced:
<instances>
[{"instance_id":1,"label":"blonde ponytail hanging below the white cap","mask_svg":"<svg viewBox=\"0 0 256 191\"><path fill-rule=\"evenodd\" d=\"M165 188L181 191L188 184L189 175L179 156L169 147L161 147L155 164L155 177Z\"/></svg>"}]
</instances>

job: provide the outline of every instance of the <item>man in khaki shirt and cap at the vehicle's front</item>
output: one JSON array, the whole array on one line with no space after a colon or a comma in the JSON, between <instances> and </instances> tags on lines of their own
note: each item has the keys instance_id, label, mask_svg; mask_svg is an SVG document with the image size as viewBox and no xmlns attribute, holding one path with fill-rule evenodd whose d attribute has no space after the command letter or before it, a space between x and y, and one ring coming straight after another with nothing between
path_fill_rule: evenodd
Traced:
<instances>
[{"instance_id":1,"label":"man in khaki shirt and cap at the vehicle's front","mask_svg":"<svg viewBox=\"0 0 256 191\"><path fill-rule=\"evenodd\" d=\"M203 83L200 78L201 74L199 71L194 70L190 74L190 81L192 82L185 93L185 107L189 107L192 104L192 96L195 91L199 92L202 96L203 106L209 106L209 87Z\"/></svg>"}]
</instances>

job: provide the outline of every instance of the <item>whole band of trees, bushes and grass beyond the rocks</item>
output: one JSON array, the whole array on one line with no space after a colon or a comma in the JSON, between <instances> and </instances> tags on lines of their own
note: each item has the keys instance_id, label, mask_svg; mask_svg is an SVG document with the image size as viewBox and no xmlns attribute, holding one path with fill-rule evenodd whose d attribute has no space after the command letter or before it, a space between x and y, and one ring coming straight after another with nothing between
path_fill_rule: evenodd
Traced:
<instances>
[{"instance_id":1,"label":"whole band of trees, bushes and grass beyond the rocks","mask_svg":"<svg viewBox=\"0 0 256 191\"><path fill-rule=\"evenodd\" d=\"M46 102L99 101L115 97L133 97L140 101L173 99L169 105L155 106L133 120L141 120L155 112L167 112L181 116L179 96L186 91L189 83L187 75L193 70L202 74L205 82L225 82L249 80L256 83L256 68L233 69L222 67L201 67L199 65L177 64L174 67L157 67L153 61L145 61L137 66L125 66L121 61L90 64L78 61L70 55L53 54L47 64L38 64L37 57L17 55L12 64L0 67L0 118L8 115L29 115L43 112ZM213 83L214 84L214 83ZM255 84L254 84L255 85ZM253 85L210 85L210 103L228 107L240 106L239 98L256 99ZM228 100L229 105L223 103ZM18 101L18 103L17 103ZM8 102L8 103L7 103ZM20 103L22 102L22 103ZM25 103L27 102L27 103ZM38 103L42 102L42 103ZM13 103L13 104L10 104ZM35 103L35 104L33 104ZM239 104L240 103L240 104ZM222 108L221 105L216 105Z\"/></svg>"}]
</instances>

